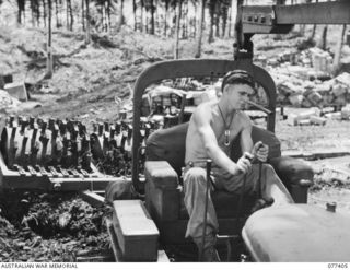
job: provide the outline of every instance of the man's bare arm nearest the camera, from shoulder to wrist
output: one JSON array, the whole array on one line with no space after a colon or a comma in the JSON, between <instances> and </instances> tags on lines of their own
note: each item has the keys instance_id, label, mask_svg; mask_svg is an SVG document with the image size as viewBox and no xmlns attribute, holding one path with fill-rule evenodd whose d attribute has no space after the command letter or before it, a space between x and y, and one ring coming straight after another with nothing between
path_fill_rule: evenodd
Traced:
<instances>
[{"instance_id":1,"label":"man's bare arm nearest the camera, from shoulder to wrist","mask_svg":"<svg viewBox=\"0 0 350 270\"><path fill-rule=\"evenodd\" d=\"M206 106L200 106L194 114L195 125L199 136L203 141L207 154L220 167L230 174L240 174L237 164L234 163L219 146L214 131L210 126L211 110Z\"/></svg>"}]
</instances>

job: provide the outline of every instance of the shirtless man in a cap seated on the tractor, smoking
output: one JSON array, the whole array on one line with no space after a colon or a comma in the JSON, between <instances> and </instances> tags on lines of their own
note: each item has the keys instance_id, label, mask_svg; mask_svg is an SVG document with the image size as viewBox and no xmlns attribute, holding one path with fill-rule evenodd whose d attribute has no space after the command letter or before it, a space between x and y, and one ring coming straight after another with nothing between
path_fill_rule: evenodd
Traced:
<instances>
[{"instance_id":1,"label":"shirtless man in a cap seated on the tractor, smoking","mask_svg":"<svg viewBox=\"0 0 350 270\"><path fill-rule=\"evenodd\" d=\"M241 193L246 175L245 192L257 190L258 166L250 163L253 157L266 162L268 146L262 142L253 145L252 122L241 111L245 102L254 94L254 80L245 71L229 72L222 82L222 96L219 101L199 105L189 121L186 137L184 171L185 206L189 213L186 237L192 237L202 248L203 212L206 201L206 160L211 159L213 181L217 189ZM244 153L237 163L230 159L231 143L241 133L241 148ZM261 195L272 198L275 204L291 203L293 199L278 178L273 168L262 165ZM230 206L229 206L230 207ZM209 195L203 260L217 261L214 249L219 224Z\"/></svg>"}]
</instances>

